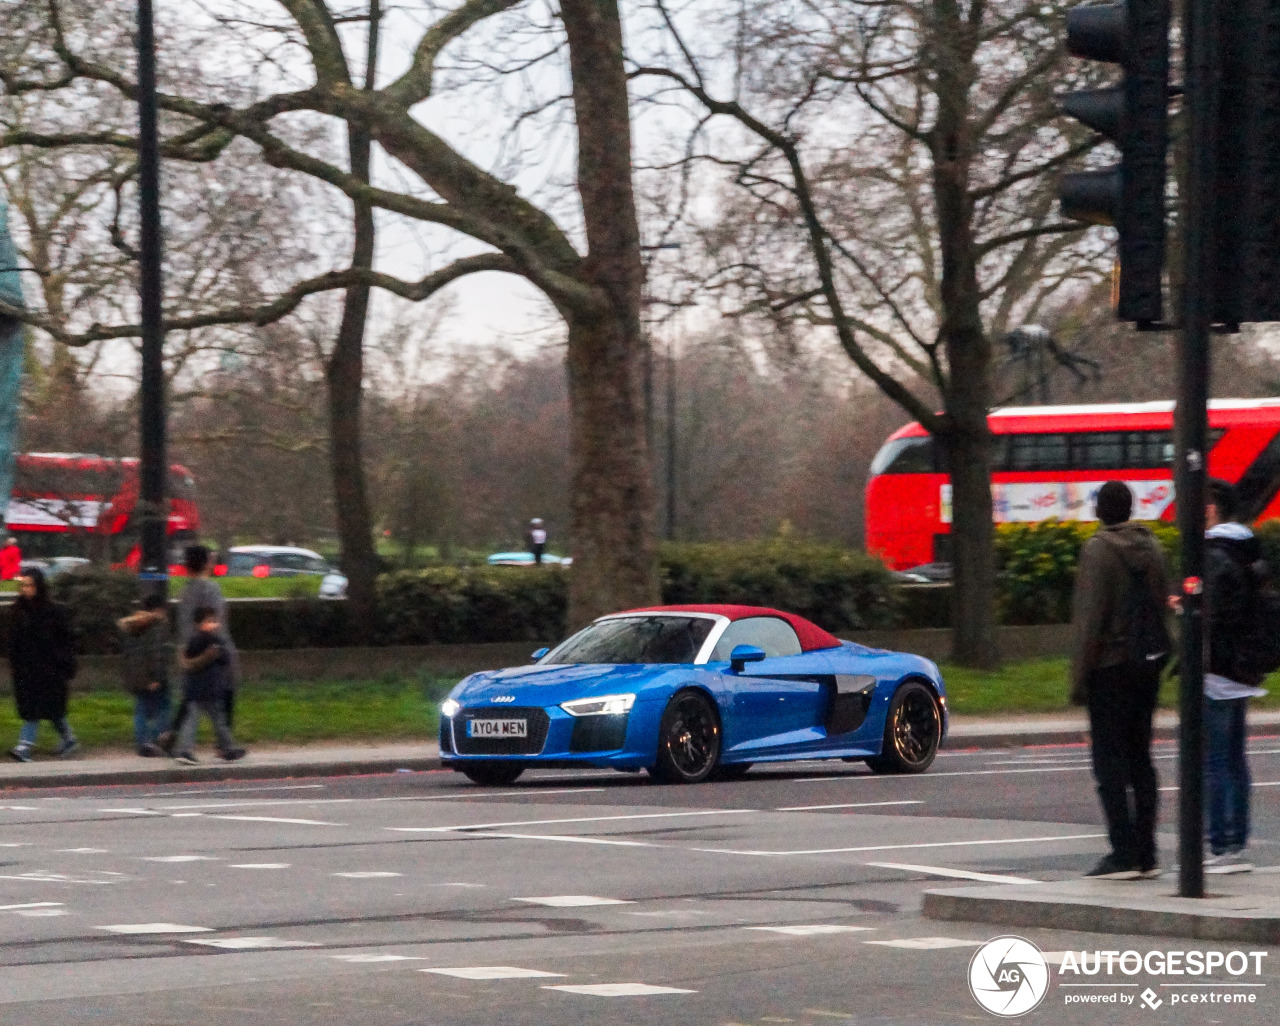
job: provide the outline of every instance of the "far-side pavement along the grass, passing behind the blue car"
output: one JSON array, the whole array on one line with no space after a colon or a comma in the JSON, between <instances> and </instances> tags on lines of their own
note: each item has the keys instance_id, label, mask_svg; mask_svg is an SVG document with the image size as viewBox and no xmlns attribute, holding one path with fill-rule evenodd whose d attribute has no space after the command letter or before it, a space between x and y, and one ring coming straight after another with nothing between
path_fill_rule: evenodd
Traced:
<instances>
[{"instance_id":1,"label":"far-side pavement along the grass, passing behind the blue car","mask_svg":"<svg viewBox=\"0 0 1280 1026\"><path fill-rule=\"evenodd\" d=\"M1176 737L1176 714L1157 714L1157 738L1172 738ZM1249 733L1253 737L1280 734L1280 710L1251 713ZM1088 727L1083 714L952 716L943 747L1015 748L1038 745L1084 745L1088 739ZM140 759L133 752L122 750L97 751L65 762L47 756L36 762L0 761L0 791L24 787L340 777L439 768L439 748L434 741L425 739L421 743L260 746L251 750L239 762L223 762L216 756L206 754L198 766L179 766L168 759Z\"/></svg>"}]
</instances>

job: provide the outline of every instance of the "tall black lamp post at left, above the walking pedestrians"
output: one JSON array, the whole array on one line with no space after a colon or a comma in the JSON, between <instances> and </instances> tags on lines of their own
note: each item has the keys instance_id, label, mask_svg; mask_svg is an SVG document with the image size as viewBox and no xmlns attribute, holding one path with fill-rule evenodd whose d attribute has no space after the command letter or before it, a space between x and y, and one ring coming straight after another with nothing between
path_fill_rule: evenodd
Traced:
<instances>
[{"instance_id":1,"label":"tall black lamp post at left, above the walking pedestrians","mask_svg":"<svg viewBox=\"0 0 1280 1026\"><path fill-rule=\"evenodd\" d=\"M168 592L163 284L160 279L160 143L151 0L138 0L138 290L142 306L141 472L137 518L143 592Z\"/></svg>"}]
</instances>

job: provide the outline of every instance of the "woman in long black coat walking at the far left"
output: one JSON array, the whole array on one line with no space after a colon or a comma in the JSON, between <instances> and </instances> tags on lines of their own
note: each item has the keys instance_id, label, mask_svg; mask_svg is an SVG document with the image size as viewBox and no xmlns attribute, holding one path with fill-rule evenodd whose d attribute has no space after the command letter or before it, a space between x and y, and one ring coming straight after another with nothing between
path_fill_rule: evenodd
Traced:
<instances>
[{"instance_id":1,"label":"woman in long black coat walking at the far left","mask_svg":"<svg viewBox=\"0 0 1280 1026\"><path fill-rule=\"evenodd\" d=\"M49 720L61 737L58 757L65 759L79 747L67 723L67 695L76 675L76 643L67 613L49 597L45 574L33 569L18 581L19 595L9 617L9 665L22 729L9 756L29 762L40 722Z\"/></svg>"}]
</instances>

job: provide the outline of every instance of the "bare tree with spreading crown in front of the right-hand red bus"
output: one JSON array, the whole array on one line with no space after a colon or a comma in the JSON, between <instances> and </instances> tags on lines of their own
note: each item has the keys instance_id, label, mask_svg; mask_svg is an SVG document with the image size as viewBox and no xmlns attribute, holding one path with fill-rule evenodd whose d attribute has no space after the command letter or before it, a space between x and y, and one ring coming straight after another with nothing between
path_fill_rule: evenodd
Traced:
<instances>
[{"instance_id":1,"label":"bare tree with spreading crown in front of the right-hand red bus","mask_svg":"<svg viewBox=\"0 0 1280 1026\"><path fill-rule=\"evenodd\" d=\"M653 0L655 55L632 72L690 110L682 166L723 169L754 200L703 224L713 280L740 311L832 331L938 440L954 655L973 665L997 659L992 339L1105 270L1102 241L1052 210L1056 174L1092 146L1051 96L1069 5L748 0L709 29L708 5Z\"/></svg>"}]
</instances>

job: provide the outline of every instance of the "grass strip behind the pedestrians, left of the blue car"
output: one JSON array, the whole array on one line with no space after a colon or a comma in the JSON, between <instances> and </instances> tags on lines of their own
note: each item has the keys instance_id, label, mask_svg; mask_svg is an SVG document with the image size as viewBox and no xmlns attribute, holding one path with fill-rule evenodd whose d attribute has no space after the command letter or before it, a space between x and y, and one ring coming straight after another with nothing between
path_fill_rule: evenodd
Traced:
<instances>
[{"instance_id":1,"label":"grass strip behind the pedestrians, left of the blue car","mask_svg":"<svg viewBox=\"0 0 1280 1026\"><path fill-rule=\"evenodd\" d=\"M457 678L387 675L370 681L262 681L236 696L236 739L302 745L312 741L435 741L439 704ZM133 743L133 696L120 691L73 693L69 719L86 748ZM18 737L13 700L0 700L0 747ZM207 723L200 739L211 742ZM41 727L41 747L54 745Z\"/></svg>"}]
</instances>

